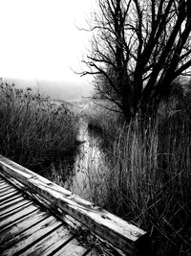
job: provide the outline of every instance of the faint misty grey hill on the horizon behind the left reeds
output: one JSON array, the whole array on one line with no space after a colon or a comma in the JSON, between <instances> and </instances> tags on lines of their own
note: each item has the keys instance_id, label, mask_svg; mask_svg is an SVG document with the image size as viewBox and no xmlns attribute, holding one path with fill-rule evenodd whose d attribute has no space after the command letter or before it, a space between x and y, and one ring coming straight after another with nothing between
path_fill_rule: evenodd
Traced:
<instances>
[{"instance_id":1,"label":"faint misty grey hill on the horizon behind the left reeds","mask_svg":"<svg viewBox=\"0 0 191 256\"><path fill-rule=\"evenodd\" d=\"M44 96L50 96L53 100L77 101L81 97L89 97L93 92L90 83L76 83L66 81L43 81L43 80L22 80L3 78L9 83L14 82L16 86L25 88L32 87L33 91L39 91Z\"/></svg>"}]
</instances>

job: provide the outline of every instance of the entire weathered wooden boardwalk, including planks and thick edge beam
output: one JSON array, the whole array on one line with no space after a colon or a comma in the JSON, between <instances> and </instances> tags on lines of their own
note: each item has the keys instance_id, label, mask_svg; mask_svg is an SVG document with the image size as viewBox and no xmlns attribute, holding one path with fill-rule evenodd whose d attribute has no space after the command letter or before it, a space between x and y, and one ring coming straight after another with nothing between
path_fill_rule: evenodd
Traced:
<instances>
[{"instance_id":1,"label":"entire weathered wooden boardwalk, including planks and thick edge beam","mask_svg":"<svg viewBox=\"0 0 191 256\"><path fill-rule=\"evenodd\" d=\"M0 255L145 255L147 246L145 231L0 156Z\"/></svg>"}]
</instances>

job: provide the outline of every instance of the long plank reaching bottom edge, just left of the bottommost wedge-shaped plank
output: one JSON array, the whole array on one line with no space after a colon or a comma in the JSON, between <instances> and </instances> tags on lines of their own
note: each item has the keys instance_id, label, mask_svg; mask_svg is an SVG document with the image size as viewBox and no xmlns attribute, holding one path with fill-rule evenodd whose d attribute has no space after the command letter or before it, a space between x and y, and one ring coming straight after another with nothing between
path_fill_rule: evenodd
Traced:
<instances>
[{"instance_id":1,"label":"long plank reaching bottom edge, just left of the bottommost wedge-shaped plank","mask_svg":"<svg viewBox=\"0 0 191 256\"><path fill-rule=\"evenodd\" d=\"M71 234L70 230L65 226L60 226L49 236L45 237L43 240L39 241L37 244L33 244L28 250L19 254L19 256L48 256L53 255L53 253L64 244L70 242L74 236Z\"/></svg>"}]
</instances>

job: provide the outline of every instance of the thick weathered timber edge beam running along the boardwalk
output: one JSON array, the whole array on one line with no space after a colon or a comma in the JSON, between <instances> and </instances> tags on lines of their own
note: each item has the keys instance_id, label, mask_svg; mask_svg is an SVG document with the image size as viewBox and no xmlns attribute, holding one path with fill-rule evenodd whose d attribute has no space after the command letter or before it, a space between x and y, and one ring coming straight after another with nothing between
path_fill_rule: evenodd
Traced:
<instances>
[{"instance_id":1,"label":"thick weathered timber edge beam running along the boardwalk","mask_svg":"<svg viewBox=\"0 0 191 256\"><path fill-rule=\"evenodd\" d=\"M11 175L32 192L47 199L52 209L64 211L126 255L148 255L148 234L142 229L96 207L92 202L74 195L2 155L0 166L5 175Z\"/></svg>"}]
</instances>

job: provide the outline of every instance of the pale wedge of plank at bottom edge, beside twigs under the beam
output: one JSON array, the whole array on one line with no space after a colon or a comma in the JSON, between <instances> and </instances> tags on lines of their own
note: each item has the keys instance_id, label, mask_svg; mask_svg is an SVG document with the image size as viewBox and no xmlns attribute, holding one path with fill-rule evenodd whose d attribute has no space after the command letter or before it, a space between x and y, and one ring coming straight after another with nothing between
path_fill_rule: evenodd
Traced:
<instances>
[{"instance_id":1,"label":"pale wedge of plank at bottom edge, beside twigs under the beam","mask_svg":"<svg viewBox=\"0 0 191 256\"><path fill-rule=\"evenodd\" d=\"M87 252L87 248L78 244L76 239L73 239L70 243L65 244L60 250L58 250L54 256L82 256Z\"/></svg>"}]
</instances>

